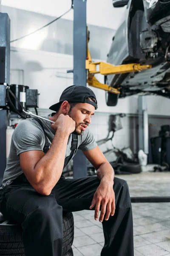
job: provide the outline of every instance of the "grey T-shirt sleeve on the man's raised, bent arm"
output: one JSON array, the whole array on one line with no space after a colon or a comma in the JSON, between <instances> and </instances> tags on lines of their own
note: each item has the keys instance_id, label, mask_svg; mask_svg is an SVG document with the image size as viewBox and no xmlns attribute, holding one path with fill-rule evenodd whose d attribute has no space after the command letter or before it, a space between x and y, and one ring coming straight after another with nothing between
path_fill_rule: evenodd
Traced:
<instances>
[{"instance_id":1,"label":"grey T-shirt sleeve on the man's raised, bent arm","mask_svg":"<svg viewBox=\"0 0 170 256\"><path fill-rule=\"evenodd\" d=\"M12 141L17 151L20 153L41 150L43 151L43 131L35 124L35 121L26 119L20 121L12 135Z\"/></svg>"}]
</instances>

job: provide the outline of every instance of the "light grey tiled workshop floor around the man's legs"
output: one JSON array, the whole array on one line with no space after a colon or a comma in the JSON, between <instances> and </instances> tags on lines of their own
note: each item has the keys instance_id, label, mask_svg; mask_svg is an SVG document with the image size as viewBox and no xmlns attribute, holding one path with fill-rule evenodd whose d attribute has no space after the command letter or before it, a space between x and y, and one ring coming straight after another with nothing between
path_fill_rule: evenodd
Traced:
<instances>
[{"instance_id":1,"label":"light grey tiled workshop floor around the man's legs","mask_svg":"<svg viewBox=\"0 0 170 256\"><path fill-rule=\"evenodd\" d=\"M127 180L130 196L170 196L170 172L117 177ZM170 256L170 203L136 203L132 207L135 256ZM73 214L74 256L100 256L102 224L94 220L93 211Z\"/></svg>"}]
</instances>

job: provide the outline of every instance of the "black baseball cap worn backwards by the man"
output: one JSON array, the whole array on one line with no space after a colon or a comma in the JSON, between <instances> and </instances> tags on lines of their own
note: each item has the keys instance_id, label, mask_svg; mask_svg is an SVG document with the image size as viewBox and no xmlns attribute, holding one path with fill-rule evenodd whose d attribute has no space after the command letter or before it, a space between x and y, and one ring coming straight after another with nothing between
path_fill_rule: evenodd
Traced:
<instances>
[{"instance_id":1,"label":"black baseball cap worn backwards by the man","mask_svg":"<svg viewBox=\"0 0 170 256\"><path fill-rule=\"evenodd\" d=\"M62 95L59 98L59 102L52 105L49 109L58 111L60 102L64 102L65 100L68 102L88 103L97 109L97 100L96 103L88 100L87 98L90 96L96 99L94 92L90 88L84 85L71 85L62 92Z\"/></svg>"}]
</instances>

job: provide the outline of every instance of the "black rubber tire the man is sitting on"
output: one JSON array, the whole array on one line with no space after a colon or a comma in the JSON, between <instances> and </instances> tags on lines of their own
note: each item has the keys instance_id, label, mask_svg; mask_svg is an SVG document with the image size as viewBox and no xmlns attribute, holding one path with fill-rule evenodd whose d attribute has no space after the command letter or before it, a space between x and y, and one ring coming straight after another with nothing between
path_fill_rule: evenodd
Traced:
<instances>
[{"instance_id":1,"label":"black rubber tire the man is sitting on","mask_svg":"<svg viewBox=\"0 0 170 256\"><path fill-rule=\"evenodd\" d=\"M1 218L3 216L1 215ZM74 218L72 212L63 212L62 256L73 256ZM5 221L3 217L3 221ZM2 224L0 221L0 256L25 256L22 228L19 224Z\"/></svg>"}]
</instances>

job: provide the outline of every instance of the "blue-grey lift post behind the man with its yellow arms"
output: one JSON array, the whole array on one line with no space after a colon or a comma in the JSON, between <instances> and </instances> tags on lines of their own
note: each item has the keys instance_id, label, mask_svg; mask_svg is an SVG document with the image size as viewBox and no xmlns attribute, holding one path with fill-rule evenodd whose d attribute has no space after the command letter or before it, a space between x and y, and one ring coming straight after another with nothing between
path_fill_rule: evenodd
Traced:
<instances>
[{"instance_id":1,"label":"blue-grey lift post behind the man with its yellow arms","mask_svg":"<svg viewBox=\"0 0 170 256\"><path fill-rule=\"evenodd\" d=\"M89 49L89 33L86 23L86 2L87 0L74 0L74 84L83 84L96 87L111 93L120 94L119 88L113 88L108 84L101 84L95 74L111 75L119 73L140 72L151 68L150 65L138 63L113 66L102 61L93 62ZM88 75L87 75L88 72ZM74 157L74 177L87 176L87 163L84 154L77 151Z\"/></svg>"}]
</instances>

